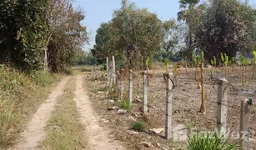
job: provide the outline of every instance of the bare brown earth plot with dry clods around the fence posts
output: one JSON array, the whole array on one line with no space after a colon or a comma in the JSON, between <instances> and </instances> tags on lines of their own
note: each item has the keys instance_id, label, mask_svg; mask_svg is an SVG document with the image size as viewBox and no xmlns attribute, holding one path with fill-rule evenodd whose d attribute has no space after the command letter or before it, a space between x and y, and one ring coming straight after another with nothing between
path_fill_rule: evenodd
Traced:
<instances>
[{"instance_id":1,"label":"bare brown earth plot with dry clods around the fence posts","mask_svg":"<svg viewBox=\"0 0 256 150\"><path fill-rule=\"evenodd\" d=\"M149 77L148 85L148 114L143 115L142 96L143 82L142 77L134 74L133 80L133 99L141 101L133 102L131 112L117 114L118 109L109 110L108 107L119 107L120 102L113 102L113 97L103 91L106 86L106 79L94 82L91 77L88 78L88 89L90 99L93 102L94 110L102 116L102 124L112 128L115 137L122 141L128 149L178 149L185 146L185 143L175 142L173 139L166 140L163 138L164 131L158 135L152 132L134 132L131 130L131 123L136 120L143 120L148 123L149 128L164 128L165 122L165 102L166 102L166 85L163 82L163 72L154 71L152 77ZM213 77L223 77L220 68L216 69ZM172 127L178 127L182 124L189 128L195 128L197 131L214 131L217 123L217 82L209 80L209 69L204 72L204 88L206 94L206 114L198 112L201 106L201 89L198 89L198 83L194 80L194 68L184 68L178 70L178 86L173 89L173 115ZM228 118L227 126L229 134L233 134L230 142L238 142L238 131L240 126L240 101L253 97L256 99L256 81L252 79L252 72L246 73L246 83L241 87L241 74L239 67L230 69L228 77ZM118 82L119 86L120 82ZM128 78L125 78L124 92L128 92ZM101 90L98 90L101 89ZM114 95L113 95L114 96ZM128 99L127 94L124 99ZM250 109L249 119L249 148L256 147L256 106ZM231 136L231 135L229 135ZM229 137L228 137L229 138ZM148 144L150 143L150 147Z\"/></svg>"}]
</instances>

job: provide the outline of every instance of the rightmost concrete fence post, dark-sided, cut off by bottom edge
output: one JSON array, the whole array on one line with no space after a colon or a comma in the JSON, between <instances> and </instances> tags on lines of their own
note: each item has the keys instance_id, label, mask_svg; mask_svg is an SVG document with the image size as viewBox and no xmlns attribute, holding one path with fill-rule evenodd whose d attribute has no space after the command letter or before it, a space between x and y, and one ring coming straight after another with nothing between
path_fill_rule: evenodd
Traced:
<instances>
[{"instance_id":1,"label":"rightmost concrete fence post, dark-sided, cut off by bottom edge","mask_svg":"<svg viewBox=\"0 0 256 150\"><path fill-rule=\"evenodd\" d=\"M240 112L240 150L248 149L248 121L249 121L249 103L247 99L241 101Z\"/></svg>"}]
</instances>

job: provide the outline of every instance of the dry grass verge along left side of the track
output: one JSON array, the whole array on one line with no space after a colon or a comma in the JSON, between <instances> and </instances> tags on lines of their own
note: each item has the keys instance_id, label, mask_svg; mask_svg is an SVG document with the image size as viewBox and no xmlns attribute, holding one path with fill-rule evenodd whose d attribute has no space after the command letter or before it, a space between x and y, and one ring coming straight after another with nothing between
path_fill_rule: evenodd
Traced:
<instances>
[{"instance_id":1,"label":"dry grass verge along left side of the track","mask_svg":"<svg viewBox=\"0 0 256 150\"><path fill-rule=\"evenodd\" d=\"M48 72L24 74L0 65L0 149L16 143L19 133L58 78Z\"/></svg>"}]
</instances>

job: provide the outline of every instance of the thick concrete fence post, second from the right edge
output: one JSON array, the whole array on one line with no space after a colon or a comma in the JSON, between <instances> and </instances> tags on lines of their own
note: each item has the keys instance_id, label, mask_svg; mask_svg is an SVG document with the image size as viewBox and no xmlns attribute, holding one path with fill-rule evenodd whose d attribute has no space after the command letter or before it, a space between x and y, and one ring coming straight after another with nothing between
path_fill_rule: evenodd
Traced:
<instances>
[{"instance_id":1,"label":"thick concrete fence post, second from the right edge","mask_svg":"<svg viewBox=\"0 0 256 150\"><path fill-rule=\"evenodd\" d=\"M228 81L225 78L218 79L218 107L217 107L217 128L223 136L227 134L228 114Z\"/></svg>"}]
</instances>

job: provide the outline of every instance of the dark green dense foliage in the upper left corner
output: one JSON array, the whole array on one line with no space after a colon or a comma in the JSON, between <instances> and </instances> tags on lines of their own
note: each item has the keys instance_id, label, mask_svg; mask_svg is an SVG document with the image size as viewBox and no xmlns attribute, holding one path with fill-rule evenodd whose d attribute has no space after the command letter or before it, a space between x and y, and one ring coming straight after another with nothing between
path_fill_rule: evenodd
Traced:
<instances>
[{"instance_id":1,"label":"dark green dense foliage in the upper left corner","mask_svg":"<svg viewBox=\"0 0 256 150\"><path fill-rule=\"evenodd\" d=\"M32 71L41 67L48 0L0 1L0 62Z\"/></svg>"}]
</instances>

